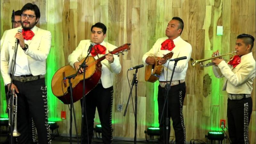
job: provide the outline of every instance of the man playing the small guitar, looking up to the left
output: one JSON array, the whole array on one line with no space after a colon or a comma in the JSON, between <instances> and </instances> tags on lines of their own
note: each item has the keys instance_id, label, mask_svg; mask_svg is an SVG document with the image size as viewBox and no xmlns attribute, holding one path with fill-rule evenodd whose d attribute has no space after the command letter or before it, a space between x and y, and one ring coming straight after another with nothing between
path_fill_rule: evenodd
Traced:
<instances>
[{"instance_id":1,"label":"man playing the small guitar, looking up to the left","mask_svg":"<svg viewBox=\"0 0 256 144\"><path fill-rule=\"evenodd\" d=\"M186 132L185 124L182 115L183 101L186 94L186 84L185 77L188 69L188 61L190 60L192 47L189 43L184 41L180 35L184 27L183 20L179 17L173 17L168 23L165 30L165 35L167 37L157 39L153 47L143 55L142 62L145 65L155 63L155 57L163 57L165 54L173 52L173 58L178 58L171 60L160 59L159 64L164 66L164 69L159 78L158 86L158 120L160 128L159 144L168 144L170 137L170 118L173 121L173 128L175 132L175 142L176 144L184 144L186 142ZM183 58L180 58L183 57ZM186 59L187 57L187 59ZM186 59L186 60L183 60ZM174 61L178 61L177 66L174 70L173 79L171 82L171 90L168 94L168 137L166 138L166 109L163 111L164 107L164 95L165 95L165 85L170 82L172 76L172 70L174 67ZM168 66L169 64L169 66ZM168 67L168 69L167 69ZM168 75L167 75L168 70ZM167 76L166 76L167 75ZM166 108L166 106L165 106ZM160 123L161 115L163 113L162 121Z\"/></svg>"}]
</instances>

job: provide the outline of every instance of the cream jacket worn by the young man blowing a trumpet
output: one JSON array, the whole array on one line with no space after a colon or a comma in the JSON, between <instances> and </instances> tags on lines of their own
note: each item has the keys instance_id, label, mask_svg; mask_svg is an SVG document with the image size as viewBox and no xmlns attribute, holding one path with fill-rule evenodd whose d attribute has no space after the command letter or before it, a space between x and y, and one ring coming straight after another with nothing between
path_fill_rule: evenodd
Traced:
<instances>
[{"instance_id":1,"label":"cream jacket worn by the young man blowing a trumpet","mask_svg":"<svg viewBox=\"0 0 256 144\"><path fill-rule=\"evenodd\" d=\"M255 78L255 60L252 52L241 56L241 62L235 68L224 60L218 66L213 66L213 73L216 77L225 77L226 83L223 91L230 94L251 94L253 78Z\"/></svg>"}]
</instances>

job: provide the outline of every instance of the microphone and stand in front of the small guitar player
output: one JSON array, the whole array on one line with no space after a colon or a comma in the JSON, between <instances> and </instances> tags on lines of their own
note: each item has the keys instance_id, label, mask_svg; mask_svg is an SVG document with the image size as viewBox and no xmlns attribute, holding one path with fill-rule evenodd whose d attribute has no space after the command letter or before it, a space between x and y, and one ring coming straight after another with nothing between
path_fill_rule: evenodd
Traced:
<instances>
[{"instance_id":1,"label":"microphone and stand in front of the small guitar player","mask_svg":"<svg viewBox=\"0 0 256 144\"><path fill-rule=\"evenodd\" d=\"M176 68L176 66L177 66L177 62L178 62L179 60L175 60L174 61L174 66L173 66L173 70L172 70L172 76L171 76L171 79L170 79L170 83L169 84L166 84L165 85L165 100L164 100L164 107L163 107L163 111L162 111L162 115L161 115L161 118L160 118L160 124L161 124L161 122L162 122L162 118L163 118L163 113L164 113L164 108L165 108L165 105L167 105L166 106L166 119L165 119L165 125L166 125L166 138L165 138L165 143L166 144L168 144L169 143L169 140L168 140L168 137L170 137L170 136L168 136L168 130L169 130L169 123L170 123L170 120L169 120L169 118L168 118L168 94L169 94L169 91L171 90L171 83L172 83L172 77L173 77L173 74L174 74L174 70L175 70L175 68ZM169 64L168 64L169 65Z\"/></svg>"}]
</instances>

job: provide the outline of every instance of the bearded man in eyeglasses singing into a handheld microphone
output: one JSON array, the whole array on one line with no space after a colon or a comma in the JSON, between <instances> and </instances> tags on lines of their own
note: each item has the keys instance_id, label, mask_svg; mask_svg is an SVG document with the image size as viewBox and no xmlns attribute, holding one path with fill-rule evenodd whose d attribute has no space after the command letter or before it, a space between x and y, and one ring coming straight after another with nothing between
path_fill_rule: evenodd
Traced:
<instances>
[{"instance_id":1,"label":"bearded man in eyeglasses singing into a handheld microphone","mask_svg":"<svg viewBox=\"0 0 256 144\"><path fill-rule=\"evenodd\" d=\"M47 117L47 90L44 75L52 36L50 31L35 26L40 18L37 5L25 4L21 12L22 32L17 32L21 27L6 32L0 55L0 69L4 84L9 90L15 89L18 97L17 128L21 134L17 137L18 143L31 143L29 141L29 125L31 125L29 116L32 116L33 140L40 144L48 144L50 143L50 127ZM18 47L15 60L16 39ZM13 77L12 84L11 77Z\"/></svg>"}]
</instances>

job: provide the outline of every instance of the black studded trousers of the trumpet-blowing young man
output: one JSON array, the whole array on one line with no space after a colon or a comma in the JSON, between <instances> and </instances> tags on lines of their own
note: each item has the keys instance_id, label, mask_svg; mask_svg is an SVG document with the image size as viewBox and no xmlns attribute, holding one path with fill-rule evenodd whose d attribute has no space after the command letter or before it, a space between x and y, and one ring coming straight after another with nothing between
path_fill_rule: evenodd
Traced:
<instances>
[{"instance_id":1,"label":"black studded trousers of the trumpet-blowing young man","mask_svg":"<svg viewBox=\"0 0 256 144\"><path fill-rule=\"evenodd\" d=\"M242 100L228 99L228 134L232 144L249 144L249 123L252 97Z\"/></svg>"}]
</instances>

